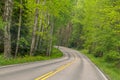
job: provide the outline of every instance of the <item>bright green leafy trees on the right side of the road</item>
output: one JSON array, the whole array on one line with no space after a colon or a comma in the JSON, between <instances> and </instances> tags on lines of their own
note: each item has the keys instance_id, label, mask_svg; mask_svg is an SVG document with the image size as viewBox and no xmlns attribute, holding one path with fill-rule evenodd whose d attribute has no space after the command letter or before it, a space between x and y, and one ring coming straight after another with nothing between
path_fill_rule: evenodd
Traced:
<instances>
[{"instance_id":1,"label":"bright green leafy trees on the right side of the road","mask_svg":"<svg viewBox=\"0 0 120 80\"><path fill-rule=\"evenodd\" d=\"M73 28L71 42L77 42L76 47L81 45L96 57L106 56L108 60L118 62L119 6L120 1L116 0L78 0L74 7L72 21L75 29Z\"/></svg>"}]
</instances>

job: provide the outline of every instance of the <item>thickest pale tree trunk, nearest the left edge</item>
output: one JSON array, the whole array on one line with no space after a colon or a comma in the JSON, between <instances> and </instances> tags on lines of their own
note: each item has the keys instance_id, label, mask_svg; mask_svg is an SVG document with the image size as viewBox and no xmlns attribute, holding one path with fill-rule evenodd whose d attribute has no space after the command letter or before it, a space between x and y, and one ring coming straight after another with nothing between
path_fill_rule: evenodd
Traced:
<instances>
[{"instance_id":1,"label":"thickest pale tree trunk, nearest the left edge","mask_svg":"<svg viewBox=\"0 0 120 80\"><path fill-rule=\"evenodd\" d=\"M4 9L4 17L3 20L6 23L4 26L4 57L11 57L11 34L10 34L10 26L12 20L12 0L5 0L5 9Z\"/></svg>"}]
</instances>

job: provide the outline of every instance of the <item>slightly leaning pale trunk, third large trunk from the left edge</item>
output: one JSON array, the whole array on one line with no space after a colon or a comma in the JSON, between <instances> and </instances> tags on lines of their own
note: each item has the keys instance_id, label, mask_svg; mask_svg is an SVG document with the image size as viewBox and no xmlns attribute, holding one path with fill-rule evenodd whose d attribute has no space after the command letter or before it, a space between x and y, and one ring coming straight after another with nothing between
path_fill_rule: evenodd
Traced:
<instances>
[{"instance_id":1,"label":"slightly leaning pale trunk, third large trunk from the left edge","mask_svg":"<svg viewBox=\"0 0 120 80\"><path fill-rule=\"evenodd\" d=\"M39 4L39 0L36 0L36 4ZM38 16L39 16L39 9L36 8L36 10L35 10L34 26L33 26L33 32L32 32L32 43L31 43L31 48L30 48L30 56L33 55L34 48L35 48L36 28L37 28L37 24L38 24Z\"/></svg>"}]
</instances>

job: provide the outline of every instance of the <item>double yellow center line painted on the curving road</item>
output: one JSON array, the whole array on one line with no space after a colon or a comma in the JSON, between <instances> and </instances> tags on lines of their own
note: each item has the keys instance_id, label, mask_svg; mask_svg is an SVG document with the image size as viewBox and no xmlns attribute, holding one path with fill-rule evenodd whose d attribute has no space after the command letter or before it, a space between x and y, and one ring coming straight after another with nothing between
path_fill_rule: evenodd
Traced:
<instances>
[{"instance_id":1,"label":"double yellow center line painted on the curving road","mask_svg":"<svg viewBox=\"0 0 120 80\"><path fill-rule=\"evenodd\" d=\"M66 63L66 64L64 64L64 65L62 65L62 66L60 66L60 67L58 67L58 68L57 68L56 70L54 70L54 71L48 72L48 73L46 73L46 74L44 74L44 75L36 78L35 80L46 80L46 79L48 79L49 77L55 75L56 73L58 73L58 72L64 70L65 68L69 67L69 66L72 65L75 61L76 61L76 59L73 60L73 61L71 61L71 62L68 62L68 63Z\"/></svg>"}]
</instances>

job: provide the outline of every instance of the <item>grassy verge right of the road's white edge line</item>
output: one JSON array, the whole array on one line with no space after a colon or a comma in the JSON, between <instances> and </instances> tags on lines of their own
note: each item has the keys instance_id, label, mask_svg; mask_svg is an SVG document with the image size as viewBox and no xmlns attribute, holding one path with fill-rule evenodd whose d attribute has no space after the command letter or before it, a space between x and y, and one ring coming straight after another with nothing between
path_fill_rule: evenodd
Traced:
<instances>
[{"instance_id":1,"label":"grassy verge right of the road's white edge line","mask_svg":"<svg viewBox=\"0 0 120 80\"><path fill-rule=\"evenodd\" d=\"M114 63L106 62L103 58L96 58L92 54L87 54L86 50L81 51L88 56L93 63L95 63L105 74L107 74L110 80L120 80L120 69L115 67Z\"/></svg>"}]
</instances>

